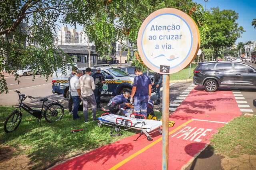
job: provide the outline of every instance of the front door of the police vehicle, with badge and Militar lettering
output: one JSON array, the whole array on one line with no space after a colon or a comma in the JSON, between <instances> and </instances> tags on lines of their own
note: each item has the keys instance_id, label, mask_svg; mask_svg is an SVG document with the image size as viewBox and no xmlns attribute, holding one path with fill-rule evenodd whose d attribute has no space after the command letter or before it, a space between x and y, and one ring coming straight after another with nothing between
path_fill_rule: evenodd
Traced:
<instances>
[{"instance_id":1,"label":"front door of the police vehicle, with badge and Militar lettering","mask_svg":"<svg viewBox=\"0 0 256 170\"><path fill-rule=\"evenodd\" d=\"M100 70L100 72L104 75L105 84L102 86L102 96L113 96L114 90L116 89L117 84L115 83L114 76L110 73Z\"/></svg>"}]
</instances>

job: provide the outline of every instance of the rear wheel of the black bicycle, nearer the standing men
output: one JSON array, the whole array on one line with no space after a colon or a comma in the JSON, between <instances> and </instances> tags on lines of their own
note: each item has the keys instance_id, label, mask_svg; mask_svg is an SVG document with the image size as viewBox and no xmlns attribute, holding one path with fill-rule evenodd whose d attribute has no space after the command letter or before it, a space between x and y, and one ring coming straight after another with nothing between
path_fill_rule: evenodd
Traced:
<instances>
[{"instance_id":1,"label":"rear wheel of the black bicycle, nearer the standing men","mask_svg":"<svg viewBox=\"0 0 256 170\"><path fill-rule=\"evenodd\" d=\"M64 108L61 104L50 104L44 111L44 118L49 123L60 120L64 115Z\"/></svg>"}]
</instances>

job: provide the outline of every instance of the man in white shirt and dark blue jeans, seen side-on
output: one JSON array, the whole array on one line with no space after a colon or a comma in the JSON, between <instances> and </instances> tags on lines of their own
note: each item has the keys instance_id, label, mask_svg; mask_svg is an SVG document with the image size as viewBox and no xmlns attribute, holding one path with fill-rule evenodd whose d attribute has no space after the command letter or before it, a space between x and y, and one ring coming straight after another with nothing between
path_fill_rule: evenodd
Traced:
<instances>
[{"instance_id":1,"label":"man in white shirt and dark blue jeans, seen side-on","mask_svg":"<svg viewBox=\"0 0 256 170\"><path fill-rule=\"evenodd\" d=\"M72 78L70 78L70 90L71 90L71 96L73 99L73 103L74 103L74 108L73 108L73 119L79 119L78 116L78 108L80 106L80 96L78 95L77 92L77 88L78 88L78 80L79 77L83 75L83 71L82 70L77 70L76 72L76 76L73 76Z\"/></svg>"}]
</instances>

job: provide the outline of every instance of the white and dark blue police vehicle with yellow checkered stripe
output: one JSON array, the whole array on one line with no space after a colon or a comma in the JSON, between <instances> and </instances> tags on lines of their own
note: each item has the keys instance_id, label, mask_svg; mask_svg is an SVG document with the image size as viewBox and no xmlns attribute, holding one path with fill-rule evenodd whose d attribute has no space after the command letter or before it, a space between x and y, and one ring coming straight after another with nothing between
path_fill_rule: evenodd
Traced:
<instances>
[{"instance_id":1,"label":"white and dark blue police vehicle with yellow checkered stripe","mask_svg":"<svg viewBox=\"0 0 256 170\"><path fill-rule=\"evenodd\" d=\"M131 76L120 68L112 67L108 64L95 65L95 67L92 67L92 74L96 72L96 67L100 67L100 72L104 75L106 82L102 86L101 96L112 97L121 94L123 89L132 89L134 76ZM86 68L78 68L78 70L83 70L84 73L85 69ZM71 72L71 68L66 71L65 75L62 74L61 69L59 69L57 72L54 72L52 77L52 93L63 94L65 98L69 98L68 76Z\"/></svg>"}]
</instances>

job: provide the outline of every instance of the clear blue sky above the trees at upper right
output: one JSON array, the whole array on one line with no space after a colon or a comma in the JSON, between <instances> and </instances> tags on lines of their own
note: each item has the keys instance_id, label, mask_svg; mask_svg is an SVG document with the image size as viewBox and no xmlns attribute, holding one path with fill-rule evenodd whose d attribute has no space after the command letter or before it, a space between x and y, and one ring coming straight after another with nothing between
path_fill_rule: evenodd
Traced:
<instances>
[{"instance_id":1,"label":"clear blue sky above the trees at upper right","mask_svg":"<svg viewBox=\"0 0 256 170\"><path fill-rule=\"evenodd\" d=\"M204 0L193 0L205 7ZM238 13L238 24L244 27L244 32L238 42L256 41L256 29L252 27L252 19L256 18L256 0L208 0L206 9L219 7L220 10L234 10Z\"/></svg>"}]
</instances>

